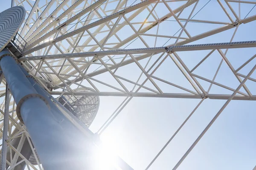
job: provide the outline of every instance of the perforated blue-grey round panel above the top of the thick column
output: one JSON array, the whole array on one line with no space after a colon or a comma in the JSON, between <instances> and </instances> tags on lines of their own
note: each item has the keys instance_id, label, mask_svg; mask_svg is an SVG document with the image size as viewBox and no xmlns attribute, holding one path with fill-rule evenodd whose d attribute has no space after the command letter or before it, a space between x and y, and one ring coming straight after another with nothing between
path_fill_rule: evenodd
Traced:
<instances>
[{"instance_id":1,"label":"perforated blue-grey round panel above the top of the thick column","mask_svg":"<svg viewBox=\"0 0 256 170\"><path fill-rule=\"evenodd\" d=\"M22 6L15 6L0 13L0 51L15 36L25 15L25 9Z\"/></svg>"}]
</instances>

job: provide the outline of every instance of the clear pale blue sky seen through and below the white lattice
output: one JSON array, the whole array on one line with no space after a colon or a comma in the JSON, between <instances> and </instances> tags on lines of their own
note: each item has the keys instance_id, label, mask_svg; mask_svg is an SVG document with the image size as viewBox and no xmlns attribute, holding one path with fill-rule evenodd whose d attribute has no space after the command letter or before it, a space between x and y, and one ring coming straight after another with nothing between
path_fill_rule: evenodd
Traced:
<instances>
[{"instance_id":1,"label":"clear pale blue sky seen through and below the white lattice","mask_svg":"<svg viewBox=\"0 0 256 170\"><path fill-rule=\"evenodd\" d=\"M3 1L3 0L2 0ZM201 0L195 11L198 11L207 0ZM180 3L173 3L173 6L180 6ZM1 10L9 8L9 3L2 3ZM175 7L174 7L175 8ZM233 6L237 11L237 6ZM241 18L250 11L252 5L241 6ZM180 17L186 17L191 8L185 10ZM163 3L160 3L157 11L166 12ZM251 11L249 16L256 14L256 8ZM135 18L145 18L146 14L139 15ZM223 16L223 17L222 17ZM215 0L212 0L205 8L200 11L193 19L198 20L213 20L230 22L221 11L220 6ZM221 20L220 20L221 19ZM150 20L150 19L149 19ZM169 18L169 20L174 20ZM189 23L187 30L194 36L202 31L212 30L220 25ZM159 32L161 34L172 36L180 27L176 22L166 21L160 24ZM238 28L238 32L233 41L256 40L256 22L242 24ZM127 28L128 29L128 28ZM147 34L155 33L156 27L152 28ZM232 37L234 28L224 31L215 36L207 37L203 40L192 42L196 43L214 43L214 42L229 42ZM121 33L119 33L121 36ZM123 35L125 36L125 34ZM186 36L183 34L182 36ZM154 46L154 40L150 37L143 37L150 46ZM114 40L113 40L114 41ZM157 46L162 46L166 39L158 39ZM166 45L172 44L169 41ZM135 41L128 48L145 47L141 42ZM184 62L191 69L199 62L209 51L183 52L178 53ZM244 61L255 54L255 48L250 49L231 49L227 53L227 58L238 68ZM221 57L215 51L203 65L201 65L195 74L212 79L215 70ZM146 61L141 61L145 64ZM253 60L248 67L241 70L241 73L247 74L250 68L255 65ZM121 70L120 70L121 71ZM133 65L123 68L124 76L131 75L131 78L136 77L140 72ZM235 77L232 78L232 73L225 63L221 66L221 75L216 77L216 82L230 85L232 88L238 86ZM175 74L174 74L175 73ZM186 82L186 79L175 67L170 58L158 69L155 73L162 79L178 85L183 85L192 90L192 87ZM256 78L256 74L253 76ZM107 75L98 77L99 79L107 80ZM202 82L203 83L203 82ZM208 83L203 83L207 89ZM246 85L252 89L255 94L255 82L247 81ZM148 84L149 87L151 85ZM162 85L166 92L177 92L177 89ZM244 92L244 90L241 89ZM212 86L210 93L232 94L217 86ZM118 105L124 100L123 97L100 97L100 108L95 121L90 129L96 132L98 128L108 119ZM135 170L143 170L163 145L169 140L175 130L186 119L195 106L200 102L198 99L161 99L161 98L134 98L119 114L119 116L111 123L105 134L102 136L103 142L109 144L128 164ZM166 147L166 150L151 166L150 170L169 170L175 166L177 161L190 147L193 141L198 137L201 131L206 127L213 116L218 112L224 104L224 100L206 99L198 110L191 117L189 122L180 130L180 133ZM212 127L207 131L204 137L198 142L197 146L187 156L183 163L178 168L179 170L252 170L256 165L256 105L255 101L232 101L221 113L221 116L215 121Z\"/></svg>"}]
</instances>

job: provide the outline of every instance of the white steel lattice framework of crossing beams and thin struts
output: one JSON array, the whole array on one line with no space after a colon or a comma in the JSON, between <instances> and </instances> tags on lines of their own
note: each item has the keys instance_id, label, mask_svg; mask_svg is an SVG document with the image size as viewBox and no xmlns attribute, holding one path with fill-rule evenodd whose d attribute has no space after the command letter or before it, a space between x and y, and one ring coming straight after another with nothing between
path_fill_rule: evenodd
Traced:
<instances>
[{"instance_id":1,"label":"white steel lattice framework of crossing beams and thin struts","mask_svg":"<svg viewBox=\"0 0 256 170\"><path fill-rule=\"evenodd\" d=\"M231 100L256 100L253 74L256 37L246 37L239 32L255 28L254 0L12 2L13 6L26 9L24 23L12 41L23 55L17 60L49 96L57 99L61 96L70 99L77 96L125 97L97 133L102 134L133 97L201 99L160 152L145 165L146 170L204 100L227 101L175 167L169 167L173 170L179 167ZM204 10L210 5L212 11ZM219 14L213 14L216 10ZM236 57L234 62L234 53L243 56ZM211 62L207 62L209 59ZM225 72L230 73L228 77ZM12 169L24 161L28 168L42 170L21 154L25 139L33 154L36 153L26 127L17 118L12 94L7 93L8 97L3 99L7 92L3 75L0 80L3 101L0 136L6 130L6 144L12 148L7 154L13 156L12 161L6 163ZM80 88L90 90L79 91ZM52 100L80 130L91 134L86 125L72 117L56 99ZM5 102L9 104L6 110ZM9 113L9 120L3 119L5 111ZM4 122L9 125L7 129ZM19 145L12 146L12 139L17 137ZM39 164L37 157L35 161Z\"/></svg>"}]
</instances>

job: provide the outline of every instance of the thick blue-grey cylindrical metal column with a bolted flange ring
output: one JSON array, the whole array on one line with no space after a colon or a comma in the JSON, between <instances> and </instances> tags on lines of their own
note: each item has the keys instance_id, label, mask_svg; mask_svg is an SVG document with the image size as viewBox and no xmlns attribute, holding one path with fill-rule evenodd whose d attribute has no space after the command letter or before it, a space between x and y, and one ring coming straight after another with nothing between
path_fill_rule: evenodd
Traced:
<instances>
[{"instance_id":1,"label":"thick blue-grey cylindrical metal column with a bolted flange ring","mask_svg":"<svg viewBox=\"0 0 256 170\"><path fill-rule=\"evenodd\" d=\"M1 51L0 58L0 67L17 103L17 112L20 110L44 169L92 169L89 166L93 161L91 142L84 136L72 138L72 133L79 133L72 126L66 131L67 127L64 128L50 111L47 99L38 94L8 51Z\"/></svg>"}]
</instances>

